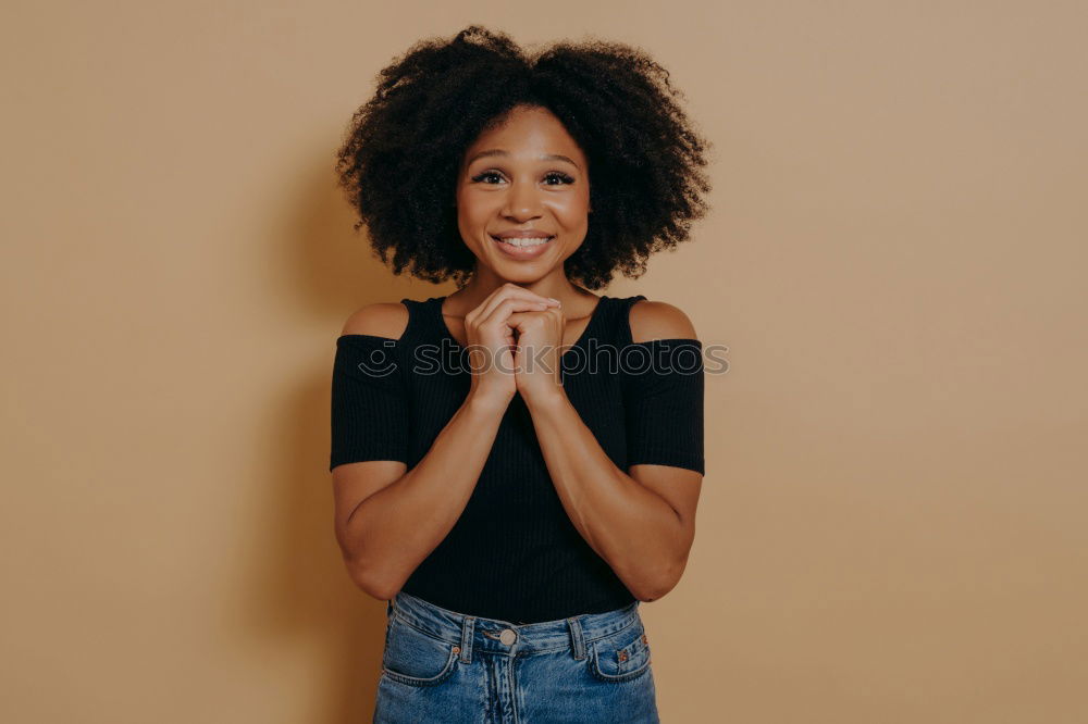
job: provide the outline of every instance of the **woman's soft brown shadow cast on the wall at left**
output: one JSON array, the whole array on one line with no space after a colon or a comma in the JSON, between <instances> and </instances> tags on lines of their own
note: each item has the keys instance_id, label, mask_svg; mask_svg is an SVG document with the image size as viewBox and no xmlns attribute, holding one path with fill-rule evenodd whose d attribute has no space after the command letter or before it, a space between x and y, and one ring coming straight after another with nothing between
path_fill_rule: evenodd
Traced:
<instances>
[{"instance_id":1,"label":"woman's soft brown shadow cast on the wall at left","mask_svg":"<svg viewBox=\"0 0 1088 724\"><path fill-rule=\"evenodd\" d=\"M381 674L385 638L385 603L358 589L347 575L333 530L330 452L330 385L336 337L348 315L363 304L425 298L449 291L425 282L394 276L370 249L366 230L355 232L355 216L335 186L333 162L321 159L308 177L312 183L283 208L297 215L270 229L270 253L287 254L284 269L297 276L285 282L283 294L297 291L298 308L314 310L314 324L329 330L314 350L316 372L286 387L272 400L263 419L261 439L275 477L268 495L277 501L267 540L256 542L252 560L258 578L245 589L246 621L255 627L258 645L269 656L288 656L302 647L304 661L319 661L308 672L326 682L327 692L302 721L316 724L357 724L370 721ZM307 175L299 174L306 178ZM255 264L268 260L255 260ZM286 644L286 646L285 646ZM314 651L317 653L314 653ZM320 684L316 687L321 690Z\"/></svg>"}]
</instances>

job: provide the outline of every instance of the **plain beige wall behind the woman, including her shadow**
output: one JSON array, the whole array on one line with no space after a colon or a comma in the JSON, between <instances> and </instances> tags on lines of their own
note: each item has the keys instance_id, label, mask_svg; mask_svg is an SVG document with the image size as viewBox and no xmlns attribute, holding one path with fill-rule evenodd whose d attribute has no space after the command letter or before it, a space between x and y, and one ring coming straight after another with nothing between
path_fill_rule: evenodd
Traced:
<instances>
[{"instance_id":1,"label":"plain beige wall behind the woman, including her shadow","mask_svg":"<svg viewBox=\"0 0 1088 724\"><path fill-rule=\"evenodd\" d=\"M369 721L334 340L452 287L370 255L333 153L479 22L643 46L715 143L694 242L605 290L729 346L664 720L1085 721L1083 3L670 4L3 4L0 719Z\"/></svg>"}]
</instances>

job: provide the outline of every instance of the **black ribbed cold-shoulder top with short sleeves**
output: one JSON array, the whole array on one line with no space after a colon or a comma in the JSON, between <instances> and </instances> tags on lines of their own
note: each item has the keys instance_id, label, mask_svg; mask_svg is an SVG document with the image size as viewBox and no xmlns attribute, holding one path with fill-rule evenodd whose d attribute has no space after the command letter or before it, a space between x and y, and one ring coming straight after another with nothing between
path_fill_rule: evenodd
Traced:
<instances>
[{"instance_id":1,"label":"black ribbed cold-shoulder top with short sleeves","mask_svg":"<svg viewBox=\"0 0 1088 724\"><path fill-rule=\"evenodd\" d=\"M363 460L412 469L465 401L471 366L442 316L444 299L401 299L409 322L397 340L336 340L330 470ZM702 344L633 342L628 314L641 299L601 297L560 358L564 390L620 470L654 463L704 473ZM516 624L603 613L635 600L567 516L519 394L461 516L403 590Z\"/></svg>"}]
</instances>

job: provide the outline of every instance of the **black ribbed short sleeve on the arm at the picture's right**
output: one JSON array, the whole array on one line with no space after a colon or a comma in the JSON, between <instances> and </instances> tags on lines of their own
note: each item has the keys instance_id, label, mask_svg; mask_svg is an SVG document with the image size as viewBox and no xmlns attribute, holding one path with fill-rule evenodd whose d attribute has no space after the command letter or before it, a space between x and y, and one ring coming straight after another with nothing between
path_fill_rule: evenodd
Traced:
<instances>
[{"instance_id":1,"label":"black ribbed short sleeve on the arm at the picture's right","mask_svg":"<svg viewBox=\"0 0 1088 724\"><path fill-rule=\"evenodd\" d=\"M705 474L702 342L632 342L622 360L628 465L671 465Z\"/></svg>"}]
</instances>

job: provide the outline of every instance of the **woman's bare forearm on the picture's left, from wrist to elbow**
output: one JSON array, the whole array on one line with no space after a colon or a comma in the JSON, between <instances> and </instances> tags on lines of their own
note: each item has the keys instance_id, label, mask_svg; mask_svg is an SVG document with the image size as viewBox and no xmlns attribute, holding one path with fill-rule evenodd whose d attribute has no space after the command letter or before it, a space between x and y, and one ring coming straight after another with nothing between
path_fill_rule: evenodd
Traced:
<instances>
[{"instance_id":1,"label":"woman's bare forearm on the picture's left, from wrist to elbow","mask_svg":"<svg viewBox=\"0 0 1088 724\"><path fill-rule=\"evenodd\" d=\"M353 512L347 548L356 578L392 598L460 517L505 409L469 396L419 463Z\"/></svg>"}]
</instances>

